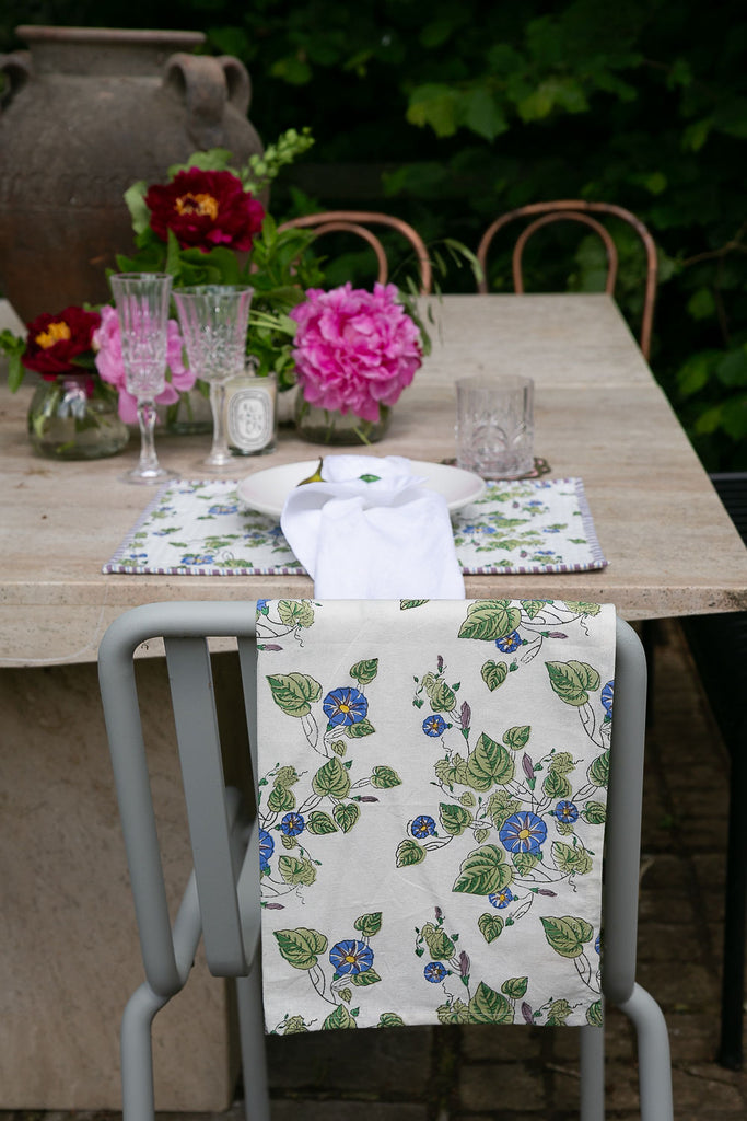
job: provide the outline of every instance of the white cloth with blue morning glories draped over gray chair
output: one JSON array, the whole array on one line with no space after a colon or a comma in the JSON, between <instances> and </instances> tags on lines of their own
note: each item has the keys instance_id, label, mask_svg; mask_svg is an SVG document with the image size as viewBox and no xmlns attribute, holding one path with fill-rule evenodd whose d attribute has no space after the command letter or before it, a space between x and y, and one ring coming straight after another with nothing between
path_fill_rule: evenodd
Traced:
<instances>
[{"instance_id":1,"label":"white cloth with blue morning glories draped over gray chair","mask_svg":"<svg viewBox=\"0 0 747 1121\"><path fill-rule=\"evenodd\" d=\"M268 1031L601 1022L615 609L258 603Z\"/></svg>"}]
</instances>

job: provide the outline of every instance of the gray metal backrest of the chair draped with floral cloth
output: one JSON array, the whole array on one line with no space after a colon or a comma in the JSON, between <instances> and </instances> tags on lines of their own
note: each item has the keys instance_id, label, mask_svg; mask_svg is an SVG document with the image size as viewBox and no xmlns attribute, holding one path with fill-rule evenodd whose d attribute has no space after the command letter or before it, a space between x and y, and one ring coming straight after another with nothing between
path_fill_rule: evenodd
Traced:
<instances>
[{"instance_id":1,"label":"gray metal backrest of the chair draped with floral cloth","mask_svg":"<svg viewBox=\"0 0 747 1121\"><path fill-rule=\"evenodd\" d=\"M256 782L255 604L153 603L118 619L101 645L101 695L130 868L146 975L164 995L184 984L175 948L153 813L133 658L141 642L164 638L194 854L194 879L208 966L243 976L259 938L256 822L236 823L226 790L207 637L235 637ZM646 665L641 642L617 621L615 715L606 830L604 991L619 1003L635 983L638 858ZM167 714L164 714L166 719ZM246 832L251 840L246 856ZM177 920L178 923L178 920Z\"/></svg>"}]
</instances>

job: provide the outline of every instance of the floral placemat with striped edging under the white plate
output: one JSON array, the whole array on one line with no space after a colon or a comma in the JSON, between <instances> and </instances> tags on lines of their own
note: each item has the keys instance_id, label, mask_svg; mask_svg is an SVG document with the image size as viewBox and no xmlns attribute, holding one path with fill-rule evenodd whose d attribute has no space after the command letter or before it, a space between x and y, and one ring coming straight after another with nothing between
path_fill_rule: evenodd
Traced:
<instances>
[{"instance_id":1,"label":"floral placemat with striped edging under the white plate","mask_svg":"<svg viewBox=\"0 0 747 1121\"><path fill-rule=\"evenodd\" d=\"M276 518L250 510L235 481L162 488L104 573L175 576L302 575ZM454 519L466 574L604 568L580 479L488 483Z\"/></svg>"}]
</instances>

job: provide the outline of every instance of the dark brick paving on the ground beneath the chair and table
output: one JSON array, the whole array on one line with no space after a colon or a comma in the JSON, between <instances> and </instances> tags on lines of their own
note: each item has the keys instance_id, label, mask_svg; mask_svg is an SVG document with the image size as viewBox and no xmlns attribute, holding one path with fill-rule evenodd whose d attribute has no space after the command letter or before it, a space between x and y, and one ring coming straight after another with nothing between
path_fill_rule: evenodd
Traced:
<instances>
[{"instance_id":1,"label":"dark brick paving on the ground beneath the chair and table","mask_svg":"<svg viewBox=\"0 0 747 1121\"><path fill-rule=\"evenodd\" d=\"M638 981L672 1045L676 1121L747 1118L747 1073L718 1066L728 756L679 629L662 630L648 733ZM704 916L695 925L697 916ZM607 1117L638 1117L632 1029L607 1023ZM269 1039L272 1121L570 1121L572 1028L402 1028ZM115 1121L112 1113L0 1112L0 1121ZM241 1121L159 1114L159 1121Z\"/></svg>"}]
</instances>

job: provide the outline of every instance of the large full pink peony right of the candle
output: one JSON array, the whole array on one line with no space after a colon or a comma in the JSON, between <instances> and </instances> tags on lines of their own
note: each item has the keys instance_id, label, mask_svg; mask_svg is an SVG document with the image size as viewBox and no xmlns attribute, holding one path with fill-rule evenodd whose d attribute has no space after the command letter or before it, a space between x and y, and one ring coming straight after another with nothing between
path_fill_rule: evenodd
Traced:
<instances>
[{"instance_id":1,"label":"large full pink peony right of the candle","mask_svg":"<svg viewBox=\"0 0 747 1121\"><path fill-rule=\"evenodd\" d=\"M379 420L380 405L394 405L422 361L420 332L396 302L395 285L373 294L346 284L332 291L309 288L290 313L298 330L293 358L309 405Z\"/></svg>"}]
</instances>

